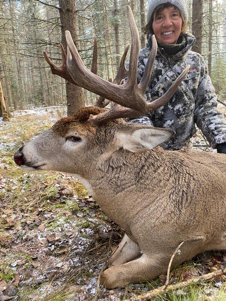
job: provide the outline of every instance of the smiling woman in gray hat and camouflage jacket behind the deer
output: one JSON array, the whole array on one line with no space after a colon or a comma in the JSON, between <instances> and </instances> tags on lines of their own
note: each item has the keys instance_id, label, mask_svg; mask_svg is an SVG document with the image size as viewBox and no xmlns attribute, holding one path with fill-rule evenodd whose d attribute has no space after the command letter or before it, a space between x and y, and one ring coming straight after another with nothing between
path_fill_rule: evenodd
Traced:
<instances>
[{"instance_id":1,"label":"smiling woman in gray hat and camouflage jacket behind the deer","mask_svg":"<svg viewBox=\"0 0 226 301\"><path fill-rule=\"evenodd\" d=\"M153 34L158 42L158 51L146 99L153 101L163 95L184 68L188 64L191 67L166 105L131 121L173 129L176 134L162 144L169 150L188 145L196 132L196 123L211 147L226 154L226 122L216 109L216 95L204 60L200 54L191 51L195 38L186 33L187 20L184 0L150 0L146 25L148 42L139 54L138 82L152 48Z\"/></svg>"}]
</instances>

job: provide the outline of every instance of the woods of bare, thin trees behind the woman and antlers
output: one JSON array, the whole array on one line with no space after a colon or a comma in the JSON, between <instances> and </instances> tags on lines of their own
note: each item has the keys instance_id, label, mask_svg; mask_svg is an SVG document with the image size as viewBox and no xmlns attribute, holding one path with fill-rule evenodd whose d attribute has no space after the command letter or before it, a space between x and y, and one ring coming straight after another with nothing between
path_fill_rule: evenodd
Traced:
<instances>
[{"instance_id":1,"label":"woods of bare, thin trees behind the woman and antlers","mask_svg":"<svg viewBox=\"0 0 226 301\"><path fill-rule=\"evenodd\" d=\"M11 111L65 105L68 114L96 95L51 74L43 51L60 64L59 44L66 46L70 30L80 56L91 65L93 37L98 44L98 75L114 77L125 47L130 44L127 5L145 47L148 1L144 0L0 0L0 76ZM188 31L197 41L193 50L202 54L219 100L226 96L225 0L187 0ZM76 101L75 101L76 100ZM0 111L1 114L1 111Z\"/></svg>"}]
</instances>

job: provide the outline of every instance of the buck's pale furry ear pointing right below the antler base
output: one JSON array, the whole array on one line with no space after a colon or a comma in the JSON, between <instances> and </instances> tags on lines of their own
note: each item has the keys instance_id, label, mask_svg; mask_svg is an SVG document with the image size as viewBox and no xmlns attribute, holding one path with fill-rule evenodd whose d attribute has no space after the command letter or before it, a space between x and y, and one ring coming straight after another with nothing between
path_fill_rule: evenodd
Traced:
<instances>
[{"instance_id":1,"label":"buck's pale furry ear pointing right below the antler base","mask_svg":"<svg viewBox=\"0 0 226 301\"><path fill-rule=\"evenodd\" d=\"M130 128L128 131L121 131L117 134L117 147L129 150L133 153L145 152L161 143L165 142L174 135L174 131L166 128L145 127Z\"/></svg>"}]
</instances>

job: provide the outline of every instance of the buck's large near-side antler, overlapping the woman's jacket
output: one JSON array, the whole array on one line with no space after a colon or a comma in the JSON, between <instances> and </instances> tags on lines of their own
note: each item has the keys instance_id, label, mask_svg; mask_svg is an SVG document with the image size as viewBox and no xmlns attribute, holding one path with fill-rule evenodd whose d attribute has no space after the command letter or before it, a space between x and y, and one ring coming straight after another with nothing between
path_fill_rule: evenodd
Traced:
<instances>
[{"instance_id":1,"label":"buck's large near-side antler, overlapping the woman's jacket","mask_svg":"<svg viewBox=\"0 0 226 301\"><path fill-rule=\"evenodd\" d=\"M52 72L58 74L63 78L70 78L73 83L81 86L102 98L107 98L121 106L114 106L108 111L90 116L90 121L93 124L100 124L107 120L112 120L115 118L124 117L139 117L141 115L147 114L154 111L155 109L161 107L173 96L177 87L186 76L190 66L187 66L185 70L180 74L177 80L169 88L169 90L160 98L149 103L145 100L145 90L149 84L151 71L154 64L155 56L157 53L157 42L155 36L152 37L152 50L149 55L144 75L142 77L139 85L137 84L137 65L138 65L138 54L139 54L139 34L137 30L136 23L134 21L133 13L131 8L128 6L128 18L132 37L132 46L130 53L130 69L128 80L122 85L116 85L109 81L100 78L98 75L92 73L83 64L78 51L73 43L71 34L69 31L65 32L67 40L67 58L65 51L62 50L62 64L60 66L55 66L51 60L45 55L48 64L51 66ZM66 60L66 66L65 66ZM57 71L56 71L57 67Z\"/></svg>"}]
</instances>

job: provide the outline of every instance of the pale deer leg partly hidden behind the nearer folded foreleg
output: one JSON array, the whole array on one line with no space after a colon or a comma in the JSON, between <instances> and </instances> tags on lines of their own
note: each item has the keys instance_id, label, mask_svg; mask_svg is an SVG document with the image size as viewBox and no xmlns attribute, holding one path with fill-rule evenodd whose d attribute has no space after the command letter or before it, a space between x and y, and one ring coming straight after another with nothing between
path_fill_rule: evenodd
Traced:
<instances>
[{"instance_id":1,"label":"pale deer leg partly hidden behind the nearer folded foreleg","mask_svg":"<svg viewBox=\"0 0 226 301\"><path fill-rule=\"evenodd\" d=\"M117 266L137 258L140 254L141 249L139 245L125 234L116 250L110 256L109 263L112 266Z\"/></svg>"}]
</instances>

